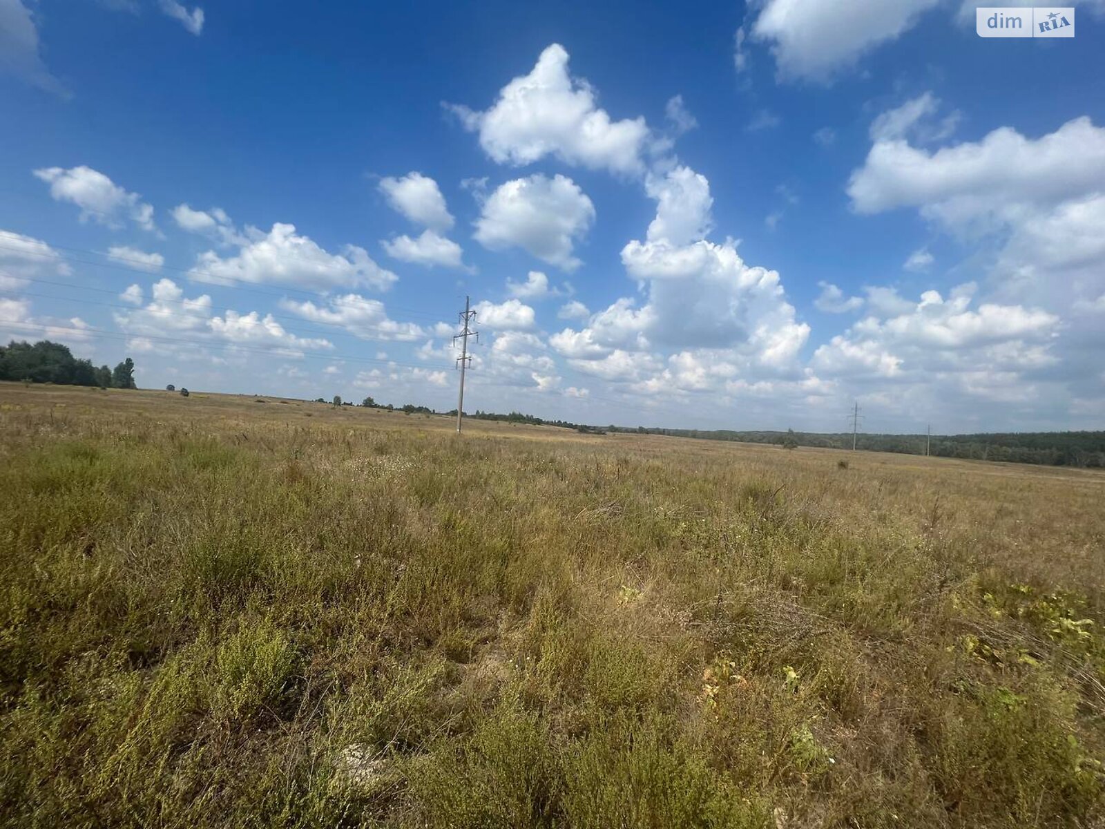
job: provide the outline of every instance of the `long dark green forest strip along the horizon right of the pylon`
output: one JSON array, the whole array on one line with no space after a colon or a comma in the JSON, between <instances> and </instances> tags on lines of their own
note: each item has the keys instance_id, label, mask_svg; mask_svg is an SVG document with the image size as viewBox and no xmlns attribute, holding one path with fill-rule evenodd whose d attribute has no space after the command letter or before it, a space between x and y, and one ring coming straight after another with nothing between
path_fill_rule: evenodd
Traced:
<instances>
[{"instance_id":1,"label":"long dark green forest strip along the horizon right of the pylon","mask_svg":"<svg viewBox=\"0 0 1105 829\"><path fill-rule=\"evenodd\" d=\"M455 413L455 411L454 411ZM852 433L838 432L770 432L730 431L719 429L656 429L646 427L606 426L593 427L569 423L562 420L543 420L533 414L511 412L495 414L477 411L470 417L480 420L502 420L511 423L534 426L559 426L580 432L631 432L636 434L667 434L674 438L696 438L698 440L727 440L739 443L774 443L782 445L793 441L800 447L823 449L851 449ZM903 454L925 454L924 434L860 434L856 449L875 452L901 452ZM1048 466L1105 468L1105 431L1102 432L1002 432L992 434L934 434L929 454L938 458L964 458L978 461L1009 461L1012 463L1036 463Z\"/></svg>"}]
</instances>

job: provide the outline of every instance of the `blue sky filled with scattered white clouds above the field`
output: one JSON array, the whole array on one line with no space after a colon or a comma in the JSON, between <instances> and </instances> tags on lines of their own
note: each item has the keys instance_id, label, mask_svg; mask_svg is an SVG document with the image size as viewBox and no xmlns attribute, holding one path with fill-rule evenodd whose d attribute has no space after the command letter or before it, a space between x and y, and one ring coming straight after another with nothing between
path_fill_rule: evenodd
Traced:
<instances>
[{"instance_id":1,"label":"blue sky filled with scattered white clouds above the field","mask_svg":"<svg viewBox=\"0 0 1105 829\"><path fill-rule=\"evenodd\" d=\"M1105 0L371 7L0 0L0 336L444 410L467 294L467 410L1103 428Z\"/></svg>"}]
</instances>

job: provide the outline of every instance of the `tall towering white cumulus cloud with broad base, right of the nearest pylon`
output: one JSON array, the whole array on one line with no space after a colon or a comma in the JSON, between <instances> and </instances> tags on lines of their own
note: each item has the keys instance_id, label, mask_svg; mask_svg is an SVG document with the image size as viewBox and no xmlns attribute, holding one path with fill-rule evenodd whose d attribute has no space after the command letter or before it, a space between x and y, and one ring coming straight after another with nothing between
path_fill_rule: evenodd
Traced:
<instances>
[{"instance_id":1,"label":"tall towering white cumulus cloud with broad base, right of the nearest pylon","mask_svg":"<svg viewBox=\"0 0 1105 829\"><path fill-rule=\"evenodd\" d=\"M747 265L730 240L703 238L712 223L705 177L674 167L648 183L656 219L646 240L621 254L645 301L621 297L583 328L552 335L551 347L576 370L648 396L798 376L809 326L797 319L777 272Z\"/></svg>"}]
</instances>

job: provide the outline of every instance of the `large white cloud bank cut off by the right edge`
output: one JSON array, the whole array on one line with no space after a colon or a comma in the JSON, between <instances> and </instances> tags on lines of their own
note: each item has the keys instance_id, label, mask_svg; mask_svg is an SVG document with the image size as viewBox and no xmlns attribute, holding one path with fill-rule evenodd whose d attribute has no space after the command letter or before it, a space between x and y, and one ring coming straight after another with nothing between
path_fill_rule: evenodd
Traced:
<instances>
[{"instance_id":1,"label":"large white cloud bank cut off by the right edge","mask_svg":"<svg viewBox=\"0 0 1105 829\"><path fill-rule=\"evenodd\" d=\"M1003 126L938 149L874 134L848 187L856 212L917 210L975 245L1004 302L1067 314L1105 291L1105 128L1088 117L1040 137ZM927 266L925 253L907 267ZM1065 340L1094 337L1105 344L1081 323Z\"/></svg>"}]
</instances>

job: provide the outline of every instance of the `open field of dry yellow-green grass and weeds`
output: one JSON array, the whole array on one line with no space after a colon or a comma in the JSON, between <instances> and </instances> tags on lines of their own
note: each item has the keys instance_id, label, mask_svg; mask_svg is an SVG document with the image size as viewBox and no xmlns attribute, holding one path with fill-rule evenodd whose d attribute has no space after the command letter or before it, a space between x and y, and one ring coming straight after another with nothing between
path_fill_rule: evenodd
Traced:
<instances>
[{"instance_id":1,"label":"open field of dry yellow-green grass and weeds","mask_svg":"<svg viewBox=\"0 0 1105 829\"><path fill-rule=\"evenodd\" d=\"M1105 825L1105 474L452 430L0 385L0 825Z\"/></svg>"}]
</instances>

